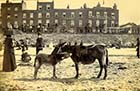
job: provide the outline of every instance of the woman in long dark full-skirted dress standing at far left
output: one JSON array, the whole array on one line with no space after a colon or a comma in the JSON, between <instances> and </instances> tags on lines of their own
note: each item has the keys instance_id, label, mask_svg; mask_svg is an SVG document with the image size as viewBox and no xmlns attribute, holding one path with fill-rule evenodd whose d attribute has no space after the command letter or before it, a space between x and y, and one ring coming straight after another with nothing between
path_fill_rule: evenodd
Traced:
<instances>
[{"instance_id":1,"label":"woman in long dark full-skirted dress standing at far left","mask_svg":"<svg viewBox=\"0 0 140 91\"><path fill-rule=\"evenodd\" d=\"M11 34L6 35L4 44L3 71L11 72L17 67Z\"/></svg>"}]
</instances>

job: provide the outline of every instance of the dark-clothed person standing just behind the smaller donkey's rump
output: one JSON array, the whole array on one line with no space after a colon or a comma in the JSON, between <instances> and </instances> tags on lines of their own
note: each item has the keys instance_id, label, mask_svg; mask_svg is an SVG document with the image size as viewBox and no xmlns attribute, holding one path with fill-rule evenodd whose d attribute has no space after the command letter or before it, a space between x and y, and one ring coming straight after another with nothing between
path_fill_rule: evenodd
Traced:
<instances>
[{"instance_id":1,"label":"dark-clothed person standing just behind the smaller donkey's rump","mask_svg":"<svg viewBox=\"0 0 140 91\"><path fill-rule=\"evenodd\" d=\"M38 38L36 40L36 55L39 53L40 50L43 50L43 38L41 34L38 34Z\"/></svg>"}]
</instances>

